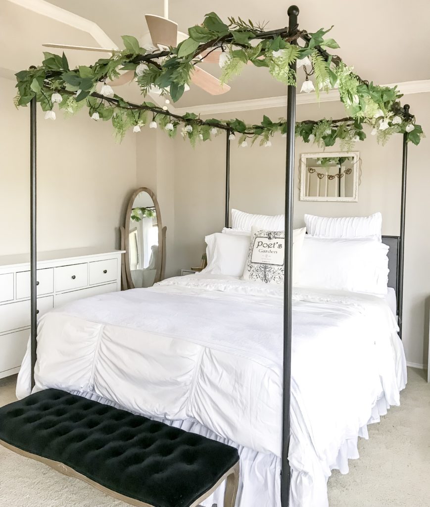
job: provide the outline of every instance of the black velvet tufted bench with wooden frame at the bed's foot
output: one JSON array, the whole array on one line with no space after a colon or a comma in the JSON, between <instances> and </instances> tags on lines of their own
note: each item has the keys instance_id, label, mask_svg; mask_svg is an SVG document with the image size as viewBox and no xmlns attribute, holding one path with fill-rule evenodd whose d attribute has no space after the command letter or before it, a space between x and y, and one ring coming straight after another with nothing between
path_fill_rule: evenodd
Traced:
<instances>
[{"instance_id":1,"label":"black velvet tufted bench with wooden frame at the bed's foot","mask_svg":"<svg viewBox=\"0 0 430 507\"><path fill-rule=\"evenodd\" d=\"M0 408L0 444L141 507L195 507L227 479L237 449L57 389Z\"/></svg>"}]
</instances>

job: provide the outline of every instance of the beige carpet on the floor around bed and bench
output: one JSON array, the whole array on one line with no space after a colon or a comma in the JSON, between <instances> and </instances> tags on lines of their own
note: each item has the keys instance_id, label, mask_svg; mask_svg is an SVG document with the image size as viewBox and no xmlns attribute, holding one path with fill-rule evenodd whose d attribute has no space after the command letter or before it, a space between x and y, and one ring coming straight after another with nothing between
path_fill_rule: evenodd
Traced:
<instances>
[{"instance_id":1,"label":"beige carpet on the floor around bed and bench","mask_svg":"<svg viewBox=\"0 0 430 507\"><path fill-rule=\"evenodd\" d=\"M15 400L16 377L0 379L0 406ZM430 385L409 369L402 406L369 426L360 459L329 480L330 507L430 507ZM0 446L1 507L124 507L126 504ZM258 507L258 506L255 506Z\"/></svg>"}]
</instances>

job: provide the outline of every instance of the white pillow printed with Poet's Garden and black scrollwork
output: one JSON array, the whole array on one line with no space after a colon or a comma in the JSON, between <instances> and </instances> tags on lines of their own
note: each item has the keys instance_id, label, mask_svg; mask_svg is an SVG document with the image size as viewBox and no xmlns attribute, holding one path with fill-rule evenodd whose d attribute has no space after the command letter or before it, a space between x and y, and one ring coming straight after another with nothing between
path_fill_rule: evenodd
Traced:
<instances>
[{"instance_id":1,"label":"white pillow printed with Poet's Garden and black scrollwork","mask_svg":"<svg viewBox=\"0 0 430 507\"><path fill-rule=\"evenodd\" d=\"M298 275L300 249L306 228L293 230L293 284ZM284 231L266 231L253 226L243 278L263 283L284 283Z\"/></svg>"}]
</instances>

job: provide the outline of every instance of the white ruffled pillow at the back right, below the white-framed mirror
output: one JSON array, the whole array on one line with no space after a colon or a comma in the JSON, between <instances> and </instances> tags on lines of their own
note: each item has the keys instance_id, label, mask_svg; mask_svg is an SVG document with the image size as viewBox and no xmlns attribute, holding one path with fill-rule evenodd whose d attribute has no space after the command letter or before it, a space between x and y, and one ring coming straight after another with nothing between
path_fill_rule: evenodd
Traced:
<instances>
[{"instance_id":1,"label":"white ruffled pillow at the back right, below the white-framed mirror","mask_svg":"<svg viewBox=\"0 0 430 507\"><path fill-rule=\"evenodd\" d=\"M381 241L382 215L328 216L304 215L307 234L316 238L372 238Z\"/></svg>"}]
</instances>

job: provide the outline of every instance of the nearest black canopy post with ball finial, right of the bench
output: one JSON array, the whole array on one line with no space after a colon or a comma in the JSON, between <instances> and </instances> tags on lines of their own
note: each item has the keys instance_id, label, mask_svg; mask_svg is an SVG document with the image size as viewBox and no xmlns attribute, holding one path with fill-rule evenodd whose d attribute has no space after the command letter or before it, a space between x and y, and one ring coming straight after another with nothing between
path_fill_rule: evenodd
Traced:
<instances>
[{"instance_id":1,"label":"nearest black canopy post with ball finial, right of the bench","mask_svg":"<svg viewBox=\"0 0 430 507\"><path fill-rule=\"evenodd\" d=\"M299 8L288 9L288 35L297 31ZM291 44L297 44L293 41ZM296 71L296 62L291 64ZM285 174L285 268L284 268L284 361L283 361L283 413L282 413L282 472L281 504L290 503L290 397L291 397L291 303L292 303L292 251L293 251L293 198L294 198L294 144L296 125L296 87L289 85L287 91L287 162Z\"/></svg>"}]
</instances>

